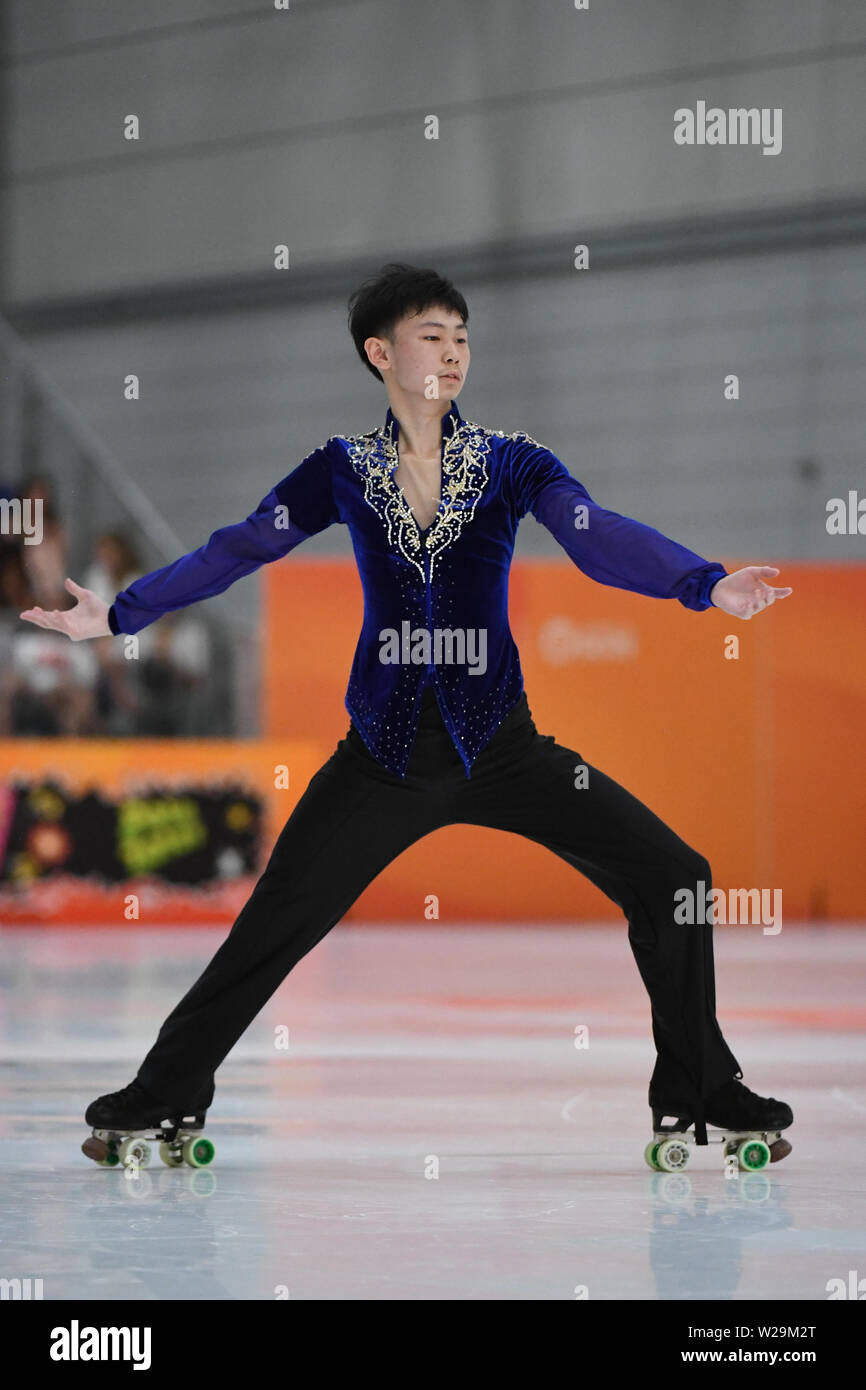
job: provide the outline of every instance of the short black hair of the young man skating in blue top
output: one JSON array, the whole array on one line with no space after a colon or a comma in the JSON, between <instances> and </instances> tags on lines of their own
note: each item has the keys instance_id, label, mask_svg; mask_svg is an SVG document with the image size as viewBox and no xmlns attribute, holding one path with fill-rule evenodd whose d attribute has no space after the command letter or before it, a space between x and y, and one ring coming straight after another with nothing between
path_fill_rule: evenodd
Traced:
<instances>
[{"instance_id":1,"label":"short black hair of the young man skating in blue top","mask_svg":"<svg viewBox=\"0 0 866 1390\"><path fill-rule=\"evenodd\" d=\"M373 366L364 343L367 338L393 338L393 329L407 314L421 314L441 304L460 314L468 324L468 309L459 289L435 270L421 270L403 261L389 261L375 275L370 275L349 296L349 332L367 371L377 381L382 374Z\"/></svg>"}]
</instances>

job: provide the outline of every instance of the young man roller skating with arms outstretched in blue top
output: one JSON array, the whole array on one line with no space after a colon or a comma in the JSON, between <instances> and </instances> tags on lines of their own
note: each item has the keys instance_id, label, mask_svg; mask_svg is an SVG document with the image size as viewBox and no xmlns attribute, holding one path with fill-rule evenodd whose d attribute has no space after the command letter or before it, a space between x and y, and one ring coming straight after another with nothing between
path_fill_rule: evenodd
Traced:
<instances>
[{"instance_id":1,"label":"young man roller skating with arms outstretched in blue top","mask_svg":"<svg viewBox=\"0 0 866 1390\"><path fill-rule=\"evenodd\" d=\"M464 420L467 307L432 270L392 263L349 300L364 366L385 384L378 430L334 435L250 516L121 591L111 606L67 580L76 606L21 617L74 641L138 632L220 594L336 521L349 527L364 621L350 726L311 778L253 894L213 960L160 1029L136 1079L85 1119L135 1133L197 1113L214 1072L288 972L403 849L439 826L496 826L546 845L624 912L652 1004L656 1131L706 1125L780 1131L788 1105L741 1084L716 1022L712 926L674 920L674 894L710 866L581 755L532 723L509 630L507 577L532 512L601 584L751 619L791 589L769 566L727 574L652 527L607 512L535 439ZM669 1126L670 1129L670 1126ZM790 1145L776 1140L774 1158ZM96 1156L96 1155L93 1155ZM655 1154L653 1154L655 1162Z\"/></svg>"}]
</instances>

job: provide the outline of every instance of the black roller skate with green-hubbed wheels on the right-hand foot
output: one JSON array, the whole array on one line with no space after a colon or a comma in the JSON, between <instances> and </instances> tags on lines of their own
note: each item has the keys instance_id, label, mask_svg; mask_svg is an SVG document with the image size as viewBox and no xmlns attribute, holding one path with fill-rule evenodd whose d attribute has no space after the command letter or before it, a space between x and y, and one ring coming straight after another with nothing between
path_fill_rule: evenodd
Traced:
<instances>
[{"instance_id":1,"label":"black roller skate with green-hubbed wheels on the right-hand foot","mask_svg":"<svg viewBox=\"0 0 866 1390\"><path fill-rule=\"evenodd\" d=\"M673 1125L664 1125L666 1115L676 1116ZM784 1101L756 1095L733 1079L701 1106L666 1109L653 1105L653 1136L644 1158L656 1172L680 1173L689 1161L692 1144L721 1144L726 1169L755 1173L787 1158L791 1145L781 1137L781 1130L792 1123L794 1112ZM708 1125L716 1133L708 1134Z\"/></svg>"}]
</instances>

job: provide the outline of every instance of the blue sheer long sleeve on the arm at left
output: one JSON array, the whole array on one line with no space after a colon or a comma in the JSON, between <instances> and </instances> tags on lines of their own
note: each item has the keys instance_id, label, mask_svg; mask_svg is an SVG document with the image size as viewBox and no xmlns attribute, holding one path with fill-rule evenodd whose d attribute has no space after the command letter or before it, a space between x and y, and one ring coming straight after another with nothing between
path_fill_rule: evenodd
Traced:
<instances>
[{"instance_id":1,"label":"blue sheer long sleeve on the arm at left","mask_svg":"<svg viewBox=\"0 0 866 1390\"><path fill-rule=\"evenodd\" d=\"M314 449L271 488L245 521L221 527L197 550L143 574L122 589L108 609L111 631L139 632L164 613L222 594L236 580L339 521L331 486L329 442Z\"/></svg>"}]
</instances>

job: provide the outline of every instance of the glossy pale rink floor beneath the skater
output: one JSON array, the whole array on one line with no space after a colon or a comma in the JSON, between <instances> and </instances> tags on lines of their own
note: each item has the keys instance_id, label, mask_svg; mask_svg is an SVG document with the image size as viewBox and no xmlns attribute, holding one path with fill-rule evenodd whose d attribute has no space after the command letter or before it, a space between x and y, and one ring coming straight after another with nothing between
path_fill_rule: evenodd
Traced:
<instances>
[{"instance_id":1,"label":"glossy pale rink floor beneath the skater","mask_svg":"<svg viewBox=\"0 0 866 1390\"><path fill-rule=\"evenodd\" d=\"M716 929L723 1031L795 1113L766 1173L726 1179L719 1147L645 1166L624 922L343 924L217 1073L211 1168L97 1166L86 1105L227 930L1 933L0 1276L46 1300L569 1301L820 1301L866 1276L862 930Z\"/></svg>"}]
</instances>

